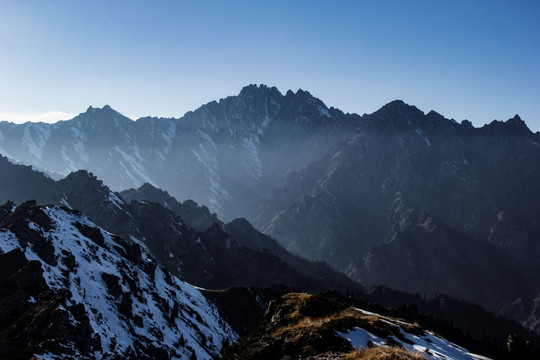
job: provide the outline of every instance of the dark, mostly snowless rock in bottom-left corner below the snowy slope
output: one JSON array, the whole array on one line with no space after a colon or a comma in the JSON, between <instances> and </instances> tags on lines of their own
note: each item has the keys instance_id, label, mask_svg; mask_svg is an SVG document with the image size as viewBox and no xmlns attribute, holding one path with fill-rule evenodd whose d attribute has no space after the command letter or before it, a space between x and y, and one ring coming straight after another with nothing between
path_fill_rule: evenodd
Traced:
<instances>
[{"instance_id":1,"label":"dark, mostly snowless rock in bottom-left corner below the snowy slope","mask_svg":"<svg viewBox=\"0 0 540 360\"><path fill-rule=\"evenodd\" d=\"M82 305L69 305L67 291L49 289L39 261L20 249L0 254L0 357L29 359L63 353L91 358L101 350Z\"/></svg>"}]
</instances>

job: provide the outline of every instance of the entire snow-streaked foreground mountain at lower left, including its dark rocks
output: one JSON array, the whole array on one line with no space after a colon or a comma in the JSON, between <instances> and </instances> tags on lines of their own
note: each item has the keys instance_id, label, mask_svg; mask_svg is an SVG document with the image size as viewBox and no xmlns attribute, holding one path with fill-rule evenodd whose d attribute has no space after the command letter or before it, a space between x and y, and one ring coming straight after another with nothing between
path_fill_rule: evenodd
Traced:
<instances>
[{"instance_id":1,"label":"entire snow-streaked foreground mountain at lower left, including its dark rocks","mask_svg":"<svg viewBox=\"0 0 540 360\"><path fill-rule=\"evenodd\" d=\"M80 212L0 207L4 359L211 359L237 337L144 244Z\"/></svg>"}]
</instances>

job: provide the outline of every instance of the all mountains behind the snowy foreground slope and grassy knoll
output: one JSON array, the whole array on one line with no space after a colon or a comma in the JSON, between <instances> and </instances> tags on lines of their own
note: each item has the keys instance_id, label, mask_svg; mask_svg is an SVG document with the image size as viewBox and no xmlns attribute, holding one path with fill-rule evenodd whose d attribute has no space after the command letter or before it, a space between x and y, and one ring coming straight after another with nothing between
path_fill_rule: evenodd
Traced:
<instances>
[{"instance_id":1,"label":"all mountains behind the snowy foreground slope and grassy knoll","mask_svg":"<svg viewBox=\"0 0 540 360\"><path fill-rule=\"evenodd\" d=\"M5 209L35 199L80 211L173 277L232 286L206 296L235 334L253 323L231 312L233 293L262 316L293 289L379 284L447 293L540 332L540 133L517 115L475 128L397 100L359 116L250 85L179 119L105 106L1 122L0 153ZM263 290L273 283L285 287Z\"/></svg>"}]
</instances>

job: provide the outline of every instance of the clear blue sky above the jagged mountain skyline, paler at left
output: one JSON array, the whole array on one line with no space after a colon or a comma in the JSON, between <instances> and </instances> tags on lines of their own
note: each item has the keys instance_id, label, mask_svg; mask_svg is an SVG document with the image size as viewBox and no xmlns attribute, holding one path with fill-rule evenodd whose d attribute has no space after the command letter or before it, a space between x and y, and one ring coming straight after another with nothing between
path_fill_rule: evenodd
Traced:
<instances>
[{"instance_id":1,"label":"clear blue sky above the jagged mountain skyline, paler at left","mask_svg":"<svg viewBox=\"0 0 540 360\"><path fill-rule=\"evenodd\" d=\"M539 131L540 1L0 0L3 119L180 117L252 83Z\"/></svg>"}]
</instances>

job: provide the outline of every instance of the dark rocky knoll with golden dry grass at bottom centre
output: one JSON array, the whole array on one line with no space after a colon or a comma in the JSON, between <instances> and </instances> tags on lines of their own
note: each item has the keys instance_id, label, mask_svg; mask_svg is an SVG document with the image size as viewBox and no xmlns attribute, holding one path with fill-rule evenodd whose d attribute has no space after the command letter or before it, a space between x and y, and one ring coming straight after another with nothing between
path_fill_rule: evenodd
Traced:
<instances>
[{"instance_id":1,"label":"dark rocky knoll with golden dry grass at bottom centre","mask_svg":"<svg viewBox=\"0 0 540 360\"><path fill-rule=\"evenodd\" d=\"M418 324L409 324L397 319L364 313L343 303L305 293L284 295L270 305L269 314L257 332L265 338L246 342L231 354L242 353L240 358L280 358L284 355L328 359L367 360L425 360L421 353L406 351L403 344L410 343L403 331L421 334ZM365 329L381 338L388 346L354 350L352 344L339 336L355 327ZM268 357L268 354L272 354ZM229 358L238 358L235 357ZM320 357L323 356L323 357Z\"/></svg>"}]
</instances>

